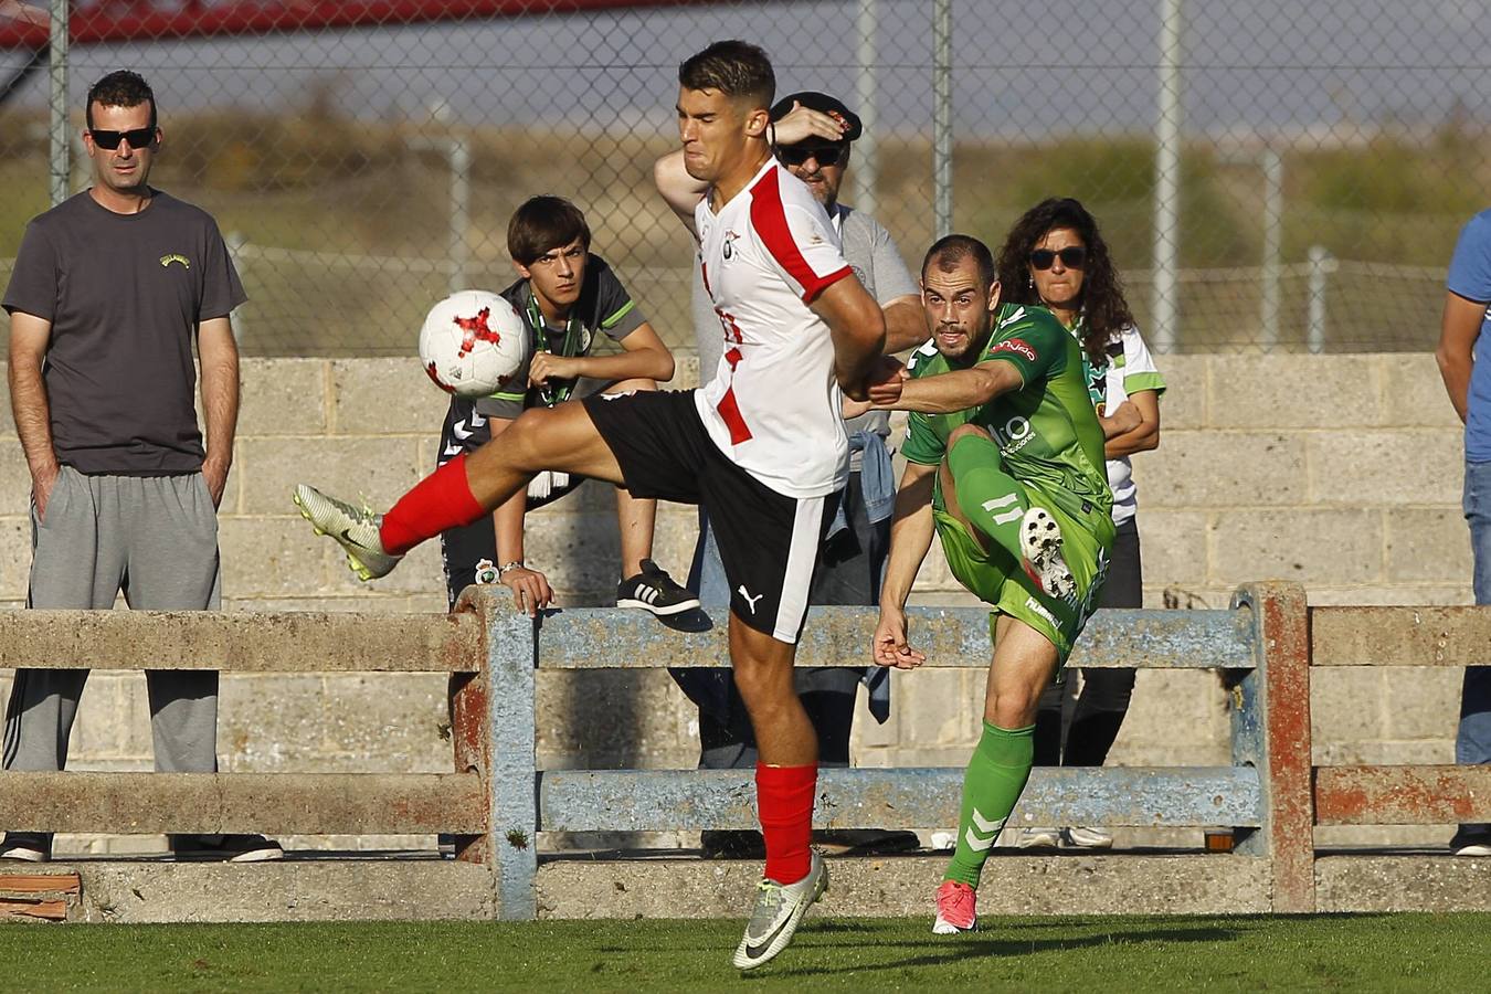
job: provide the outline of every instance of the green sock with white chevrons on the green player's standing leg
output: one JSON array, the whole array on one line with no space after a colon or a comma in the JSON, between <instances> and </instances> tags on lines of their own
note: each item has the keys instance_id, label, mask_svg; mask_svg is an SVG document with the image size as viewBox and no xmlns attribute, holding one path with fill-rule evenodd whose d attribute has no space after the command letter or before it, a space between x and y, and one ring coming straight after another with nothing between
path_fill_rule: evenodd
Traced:
<instances>
[{"instance_id":1,"label":"green sock with white chevrons on the green player's standing leg","mask_svg":"<svg viewBox=\"0 0 1491 994\"><path fill-rule=\"evenodd\" d=\"M942 879L978 887L989 849L1020 800L1035 762L1035 726L1000 729L984 721L974 759L963 773L963 809L957 818L957 849Z\"/></svg>"}]
</instances>

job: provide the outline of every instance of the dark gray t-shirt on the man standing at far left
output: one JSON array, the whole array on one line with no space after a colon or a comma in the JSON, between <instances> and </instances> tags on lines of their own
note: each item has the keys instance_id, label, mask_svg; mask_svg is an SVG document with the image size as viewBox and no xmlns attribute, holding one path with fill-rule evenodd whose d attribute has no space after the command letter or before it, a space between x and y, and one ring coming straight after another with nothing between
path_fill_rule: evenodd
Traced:
<instances>
[{"instance_id":1,"label":"dark gray t-shirt on the man standing at far left","mask_svg":"<svg viewBox=\"0 0 1491 994\"><path fill-rule=\"evenodd\" d=\"M34 218L4 308L52 322L42 376L58 462L200 469L192 338L245 300L216 222L168 194L119 215L83 191Z\"/></svg>"}]
</instances>

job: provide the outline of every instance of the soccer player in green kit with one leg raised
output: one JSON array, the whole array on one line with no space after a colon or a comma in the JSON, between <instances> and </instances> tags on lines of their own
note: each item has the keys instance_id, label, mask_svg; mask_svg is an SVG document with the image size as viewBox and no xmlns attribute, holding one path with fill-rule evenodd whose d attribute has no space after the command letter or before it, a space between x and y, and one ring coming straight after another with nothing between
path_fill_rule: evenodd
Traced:
<instances>
[{"instance_id":1,"label":"soccer player in green kit with one leg raised","mask_svg":"<svg viewBox=\"0 0 1491 994\"><path fill-rule=\"evenodd\" d=\"M1041 691L1097 604L1114 525L1077 340L1042 307L1000 306L989 247L968 235L927 250L921 301L932 340L886 402L911 420L872 654L901 669L924 662L905 604L935 531L953 575L993 607L994 644L936 893L932 931L948 934L975 925L980 872L1030 776Z\"/></svg>"}]
</instances>

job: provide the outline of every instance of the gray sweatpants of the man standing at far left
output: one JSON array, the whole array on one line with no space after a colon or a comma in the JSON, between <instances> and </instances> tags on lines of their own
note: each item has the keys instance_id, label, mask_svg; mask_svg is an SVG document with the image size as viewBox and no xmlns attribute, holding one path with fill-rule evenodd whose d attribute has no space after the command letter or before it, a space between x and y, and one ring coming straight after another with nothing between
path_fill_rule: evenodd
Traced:
<instances>
[{"instance_id":1,"label":"gray sweatpants of the man standing at far left","mask_svg":"<svg viewBox=\"0 0 1491 994\"><path fill-rule=\"evenodd\" d=\"M31 508L27 607L107 611L122 589L128 605L142 611L215 611L219 584L218 514L201 474L83 475L63 466L46 520ZM16 671L4 715L4 769L66 766L86 680L86 669ZM216 770L218 674L149 671L146 683L155 769Z\"/></svg>"}]
</instances>

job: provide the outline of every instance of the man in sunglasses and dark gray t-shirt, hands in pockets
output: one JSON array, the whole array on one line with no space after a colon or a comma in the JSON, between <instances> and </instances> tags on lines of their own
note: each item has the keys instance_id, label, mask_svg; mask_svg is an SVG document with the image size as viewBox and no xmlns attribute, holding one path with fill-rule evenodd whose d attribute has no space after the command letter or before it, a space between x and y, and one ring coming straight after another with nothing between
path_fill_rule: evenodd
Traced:
<instances>
[{"instance_id":1,"label":"man in sunglasses and dark gray t-shirt, hands in pockets","mask_svg":"<svg viewBox=\"0 0 1491 994\"><path fill-rule=\"evenodd\" d=\"M230 313L245 301L218 225L148 185L155 95L131 72L88 91L94 183L27 225L4 294L10 405L31 472L27 607L218 610L218 517L239 417ZM197 428L192 341L201 358ZM60 770L88 660L19 669L4 769ZM155 767L218 767L218 674L151 671ZM12 826L0 860L45 861L40 824ZM177 854L282 855L262 836L173 836Z\"/></svg>"}]
</instances>

